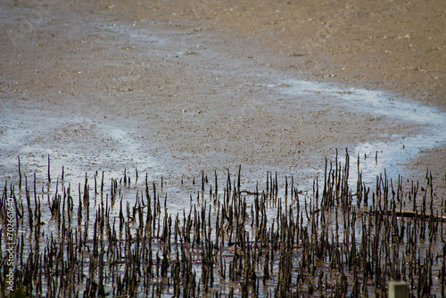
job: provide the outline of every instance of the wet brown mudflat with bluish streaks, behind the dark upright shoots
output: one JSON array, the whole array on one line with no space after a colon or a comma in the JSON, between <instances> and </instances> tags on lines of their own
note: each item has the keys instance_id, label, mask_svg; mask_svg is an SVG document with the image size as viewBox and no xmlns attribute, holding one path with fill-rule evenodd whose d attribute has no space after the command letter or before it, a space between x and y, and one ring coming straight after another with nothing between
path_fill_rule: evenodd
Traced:
<instances>
[{"instance_id":1,"label":"wet brown mudflat with bluish streaks, behind the dark upright shoots","mask_svg":"<svg viewBox=\"0 0 446 298\"><path fill-rule=\"evenodd\" d=\"M49 154L73 181L304 185L348 147L446 193L444 1L0 1L0 25L3 181Z\"/></svg>"}]
</instances>

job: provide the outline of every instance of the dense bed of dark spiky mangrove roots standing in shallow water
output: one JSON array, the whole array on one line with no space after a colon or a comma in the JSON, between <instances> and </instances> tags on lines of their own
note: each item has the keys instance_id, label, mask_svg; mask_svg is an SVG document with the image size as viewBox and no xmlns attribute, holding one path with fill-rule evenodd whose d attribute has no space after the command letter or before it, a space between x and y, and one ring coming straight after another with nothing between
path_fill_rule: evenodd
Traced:
<instances>
[{"instance_id":1,"label":"dense bed of dark spiky mangrove roots standing in shallow water","mask_svg":"<svg viewBox=\"0 0 446 298\"><path fill-rule=\"evenodd\" d=\"M386 297L389 281L404 280L410 296L444 297L446 200L432 174L384 171L371 185L359 157L354 169L356 158L337 156L307 190L277 172L244 185L241 167L201 171L178 183L174 196L190 202L180 209L167 179L136 169L86 173L75 186L49 157L46 182L18 159L0 201L1 293Z\"/></svg>"}]
</instances>

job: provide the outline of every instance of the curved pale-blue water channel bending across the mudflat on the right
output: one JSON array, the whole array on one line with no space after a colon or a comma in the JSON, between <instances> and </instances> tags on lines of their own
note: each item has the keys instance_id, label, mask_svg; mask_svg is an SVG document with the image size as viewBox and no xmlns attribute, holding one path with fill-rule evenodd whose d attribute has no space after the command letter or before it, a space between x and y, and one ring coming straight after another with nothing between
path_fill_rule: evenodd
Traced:
<instances>
[{"instance_id":1,"label":"curved pale-blue water channel bending across the mudflat on the right","mask_svg":"<svg viewBox=\"0 0 446 298\"><path fill-rule=\"evenodd\" d=\"M384 134L387 141L365 142L349 148L352 168L357 167L356 156L362 164L365 181L374 182L376 176L384 173L391 176L403 174L408 162L417 158L420 152L446 144L446 113L435 107L399 98L383 91L359 87L340 87L336 84L304 80L285 80L285 83L270 86L299 101L317 103L321 109L340 107L345 112L361 114L370 121L402 120L421 129L420 133L409 136ZM351 182L355 178L352 178Z\"/></svg>"}]
</instances>

